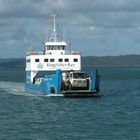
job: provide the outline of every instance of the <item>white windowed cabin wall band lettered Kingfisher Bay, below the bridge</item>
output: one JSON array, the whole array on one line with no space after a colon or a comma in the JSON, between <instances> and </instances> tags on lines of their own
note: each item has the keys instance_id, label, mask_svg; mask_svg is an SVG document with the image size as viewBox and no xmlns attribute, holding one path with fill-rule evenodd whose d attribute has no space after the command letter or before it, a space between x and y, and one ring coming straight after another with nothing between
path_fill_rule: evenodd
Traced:
<instances>
[{"instance_id":1,"label":"white windowed cabin wall band lettered Kingfisher Bay, below the bridge","mask_svg":"<svg viewBox=\"0 0 140 140\"><path fill-rule=\"evenodd\" d=\"M27 59L30 59L30 62L26 61L26 70L31 71L55 71L57 69L61 69L62 71L81 70L80 55L30 55L27 56ZM39 62L35 62L36 59L39 59ZM44 62L45 59L48 59L48 62ZM50 62L51 59L54 59L54 62ZM59 59L62 59L63 62L59 62ZM68 59L69 62L65 62L65 59ZM77 59L78 62L74 62L74 59Z\"/></svg>"}]
</instances>

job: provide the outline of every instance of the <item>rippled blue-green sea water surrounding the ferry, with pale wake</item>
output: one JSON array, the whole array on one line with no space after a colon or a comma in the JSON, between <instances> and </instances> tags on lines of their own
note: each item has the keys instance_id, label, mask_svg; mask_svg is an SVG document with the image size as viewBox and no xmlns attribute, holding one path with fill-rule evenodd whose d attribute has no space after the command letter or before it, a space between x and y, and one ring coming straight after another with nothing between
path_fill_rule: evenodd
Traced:
<instances>
[{"instance_id":1,"label":"rippled blue-green sea water surrounding the ferry, with pale wake","mask_svg":"<svg viewBox=\"0 0 140 140\"><path fill-rule=\"evenodd\" d=\"M101 96L75 99L26 93L23 74L1 71L0 140L140 140L140 69L99 73Z\"/></svg>"}]
</instances>

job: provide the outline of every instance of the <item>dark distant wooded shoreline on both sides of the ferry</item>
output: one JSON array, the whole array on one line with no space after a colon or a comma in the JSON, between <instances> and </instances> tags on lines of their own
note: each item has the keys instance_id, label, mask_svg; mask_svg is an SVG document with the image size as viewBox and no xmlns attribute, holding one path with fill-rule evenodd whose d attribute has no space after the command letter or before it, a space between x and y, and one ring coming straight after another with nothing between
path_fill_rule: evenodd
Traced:
<instances>
[{"instance_id":1,"label":"dark distant wooded shoreline on both sides of the ferry","mask_svg":"<svg viewBox=\"0 0 140 140\"><path fill-rule=\"evenodd\" d=\"M140 68L140 55L83 56L82 67L91 68ZM25 58L0 59L0 68L25 69Z\"/></svg>"}]
</instances>

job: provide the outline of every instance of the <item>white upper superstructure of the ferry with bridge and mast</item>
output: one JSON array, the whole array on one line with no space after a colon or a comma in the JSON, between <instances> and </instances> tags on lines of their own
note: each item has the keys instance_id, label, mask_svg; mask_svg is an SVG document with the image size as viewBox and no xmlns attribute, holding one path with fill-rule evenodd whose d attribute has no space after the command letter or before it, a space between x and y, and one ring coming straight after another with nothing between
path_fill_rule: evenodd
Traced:
<instances>
[{"instance_id":1,"label":"white upper superstructure of the ferry with bridge and mast","mask_svg":"<svg viewBox=\"0 0 140 140\"><path fill-rule=\"evenodd\" d=\"M26 71L31 71L31 81L38 71L79 71L81 70L81 55L78 51L67 49L65 41L59 41L55 26L50 40L43 44L42 52L28 52L26 56Z\"/></svg>"}]
</instances>

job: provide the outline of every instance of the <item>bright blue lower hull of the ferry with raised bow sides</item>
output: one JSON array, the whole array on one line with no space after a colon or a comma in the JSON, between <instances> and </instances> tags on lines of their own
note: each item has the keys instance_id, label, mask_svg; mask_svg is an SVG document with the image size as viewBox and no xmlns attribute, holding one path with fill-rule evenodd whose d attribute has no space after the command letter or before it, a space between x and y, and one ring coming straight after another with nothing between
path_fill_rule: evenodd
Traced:
<instances>
[{"instance_id":1,"label":"bright blue lower hull of the ferry with raised bow sides","mask_svg":"<svg viewBox=\"0 0 140 140\"><path fill-rule=\"evenodd\" d=\"M54 75L45 76L40 84L30 83L26 73L25 90L29 93L46 96L64 97L98 97L99 96L99 76L97 70L93 70L88 90L64 90L62 89L62 72L57 70Z\"/></svg>"}]
</instances>

